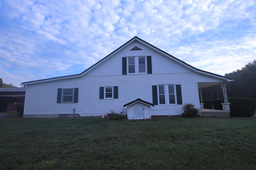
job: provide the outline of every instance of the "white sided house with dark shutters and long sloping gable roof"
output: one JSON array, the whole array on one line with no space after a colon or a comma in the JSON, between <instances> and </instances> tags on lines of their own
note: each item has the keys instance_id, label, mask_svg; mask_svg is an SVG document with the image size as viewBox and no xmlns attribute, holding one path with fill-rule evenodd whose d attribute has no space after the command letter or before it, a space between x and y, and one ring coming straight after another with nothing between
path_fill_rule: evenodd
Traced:
<instances>
[{"instance_id":1,"label":"white sided house with dark shutters and long sloping gable roof","mask_svg":"<svg viewBox=\"0 0 256 170\"><path fill-rule=\"evenodd\" d=\"M128 119L180 115L186 103L202 107L201 88L222 84L226 94L230 81L134 37L80 74L23 82L24 117L59 117L74 110L80 116L114 110Z\"/></svg>"}]
</instances>

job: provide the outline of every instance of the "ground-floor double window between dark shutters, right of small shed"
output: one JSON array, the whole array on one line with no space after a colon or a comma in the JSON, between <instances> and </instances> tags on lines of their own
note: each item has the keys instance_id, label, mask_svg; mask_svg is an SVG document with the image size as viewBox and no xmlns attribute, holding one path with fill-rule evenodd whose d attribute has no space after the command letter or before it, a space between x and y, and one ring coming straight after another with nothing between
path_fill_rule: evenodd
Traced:
<instances>
[{"instance_id":1,"label":"ground-floor double window between dark shutters, right of small shed","mask_svg":"<svg viewBox=\"0 0 256 170\"><path fill-rule=\"evenodd\" d=\"M159 104L176 104L174 85L158 85Z\"/></svg>"}]
</instances>

